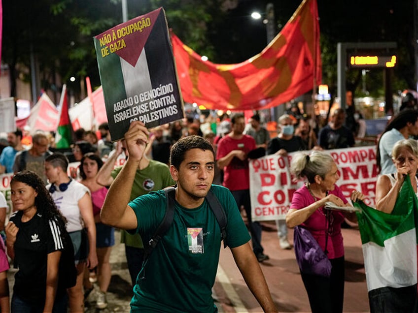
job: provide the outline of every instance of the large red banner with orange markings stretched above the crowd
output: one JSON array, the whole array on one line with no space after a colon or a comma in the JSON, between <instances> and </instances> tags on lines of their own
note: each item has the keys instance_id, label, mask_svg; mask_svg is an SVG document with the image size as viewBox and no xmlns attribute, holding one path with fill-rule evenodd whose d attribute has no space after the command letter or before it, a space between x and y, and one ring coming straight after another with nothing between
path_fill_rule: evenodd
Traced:
<instances>
[{"instance_id":1,"label":"large red banner with orange markings stretched above the crowd","mask_svg":"<svg viewBox=\"0 0 418 313\"><path fill-rule=\"evenodd\" d=\"M208 109L267 109L321 81L316 0L304 0L269 45L243 63L204 62L174 33L172 44L184 101Z\"/></svg>"}]
</instances>

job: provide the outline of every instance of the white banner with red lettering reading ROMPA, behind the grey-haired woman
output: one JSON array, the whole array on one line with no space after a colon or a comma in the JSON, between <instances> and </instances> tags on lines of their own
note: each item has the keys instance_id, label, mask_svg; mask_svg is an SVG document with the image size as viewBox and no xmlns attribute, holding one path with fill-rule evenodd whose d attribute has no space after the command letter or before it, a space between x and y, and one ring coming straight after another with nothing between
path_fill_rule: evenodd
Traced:
<instances>
[{"instance_id":1,"label":"white banner with red lettering reading ROMPA, behind the grey-haired woman","mask_svg":"<svg viewBox=\"0 0 418 313\"><path fill-rule=\"evenodd\" d=\"M348 199L352 190L364 193L364 203L375 206L377 180L376 147L327 150L337 164L338 187ZM304 182L290 174L292 156L270 155L249 161L250 197L253 220L285 219L293 193ZM309 152L308 152L309 153Z\"/></svg>"}]
</instances>

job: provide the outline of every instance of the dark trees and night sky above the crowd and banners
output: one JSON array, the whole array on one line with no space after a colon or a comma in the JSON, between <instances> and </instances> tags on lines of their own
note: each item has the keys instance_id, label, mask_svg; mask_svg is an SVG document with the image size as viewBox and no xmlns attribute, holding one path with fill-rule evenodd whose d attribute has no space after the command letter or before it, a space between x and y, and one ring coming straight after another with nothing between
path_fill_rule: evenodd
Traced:
<instances>
[{"instance_id":1,"label":"dark trees and night sky above the crowd and banners","mask_svg":"<svg viewBox=\"0 0 418 313\"><path fill-rule=\"evenodd\" d=\"M31 51L39 68L40 86L58 90L70 76L89 76L100 85L93 36L122 22L121 0L9 0L3 1L2 63L12 79L30 81ZM398 64L393 70L393 91L415 89L415 40L412 0L318 1L323 83L336 92L338 42L395 41ZM127 0L128 19L158 7L168 25L188 46L214 63L239 63L267 45L266 27L250 18L275 5L278 31L301 0ZM61 77L62 81L57 79ZM357 94L363 89L360 70L347 71ZM368 72L366 89L383 94L382 71ZM71 88L79 91L79 84ZM16 94L12 86L11 95Z\"/></svg>"}]
</instances>

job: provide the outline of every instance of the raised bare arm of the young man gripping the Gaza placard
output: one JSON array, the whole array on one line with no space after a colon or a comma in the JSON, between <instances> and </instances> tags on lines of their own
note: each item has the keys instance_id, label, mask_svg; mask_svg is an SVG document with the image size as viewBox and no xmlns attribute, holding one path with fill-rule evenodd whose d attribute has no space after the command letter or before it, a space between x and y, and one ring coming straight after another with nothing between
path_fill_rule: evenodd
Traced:
<instances>
[{"instance_id":1,"label":"raised bare arm of the young man gripping the Gaza placard","mask_svg":"<svg viewBox=\"0 0 418 313\"><path fill-rule=\"evenodd\" d=\"M129 158L107 192L100 218L107 225L135 229L137 218L128 203L135 173L148 142L148 130L143 123L133 122L125 133L125 140Z\"/></svg>"}]
</instances>

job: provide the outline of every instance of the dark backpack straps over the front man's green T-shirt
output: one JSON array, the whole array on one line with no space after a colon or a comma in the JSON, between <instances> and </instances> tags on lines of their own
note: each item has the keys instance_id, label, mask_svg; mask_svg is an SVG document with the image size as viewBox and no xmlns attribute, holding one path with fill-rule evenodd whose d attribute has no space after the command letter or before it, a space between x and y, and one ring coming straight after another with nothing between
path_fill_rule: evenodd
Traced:
<instances>
[{"instance_id":1,"label":"dark backpack straps over the front man's green T-shirt","mask_svg":"<svg viewBox=\"0 0 418 313\"><path fill-rule=\"evenodd\" d=\"M157 230L155 231L154 235L152 236L151 240L148 242L148 245L144 244L144 260L142 264L142 268L145 266L145 263L157 246L158 242L161 238L164 237L167 230L170 228L171 224L173 223L174 218L174 201L175 201L175 188L174 187L167 187L164 189L167 198L167 208L164 218L162 219L160 225L158 225ZM209 189L208 194L205 197L209 202L209 207L212 210L213 214L215 215L216 221L219 224L219 228L221 230L221 240L223 240L223 247L226 248L226 214L225 211L220 204L218 198L212 192L212 189Z\"/></svg>"}]
</instances>

